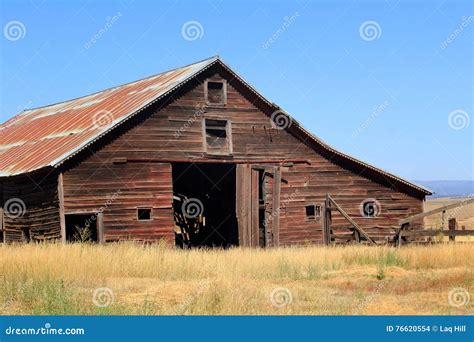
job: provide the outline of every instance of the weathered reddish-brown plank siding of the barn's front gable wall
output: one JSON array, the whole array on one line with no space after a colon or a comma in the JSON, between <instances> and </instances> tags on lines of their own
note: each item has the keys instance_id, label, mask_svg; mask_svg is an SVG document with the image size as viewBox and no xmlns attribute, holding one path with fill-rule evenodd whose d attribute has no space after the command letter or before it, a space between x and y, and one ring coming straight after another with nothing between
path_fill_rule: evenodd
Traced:
<instances>
[{"instance_id":1,"label":"weathered reddish-brown plank siding of the barn's front gable wall","mask_svg":"<svg viewBox=\"0 0 474 342\"><path fill-rule=\"evenodd\" d=\"M239 93L229 80L227 105L197 108L205 102L202 84L155 111L144 122L101 148L94 156L64 174L65 211L99 210L120 191L104 210L106 240L119 238L172 240L172 177L168 163L114 164L117 158L210 158L203 147L203 118L232 122L233 158L306 159L310 165L282 168L280 245L321 243L322 218L309 221L306 204L324 206L327 193L376 239L392 236L397 220L422 211L423 202L374 183L317 154L285 130L272 128L270 118ZM216 162L219 162L216 160ZM272 179L267 184L267 215L272 212ZM360 203L374 198L381 204L376 218L362 218ZM154 219L136 220L136 207L153 207ZM269 230L272 230L272 218ZM348 224L334 213L335 228Z\"/></svg>"}]
</instances>

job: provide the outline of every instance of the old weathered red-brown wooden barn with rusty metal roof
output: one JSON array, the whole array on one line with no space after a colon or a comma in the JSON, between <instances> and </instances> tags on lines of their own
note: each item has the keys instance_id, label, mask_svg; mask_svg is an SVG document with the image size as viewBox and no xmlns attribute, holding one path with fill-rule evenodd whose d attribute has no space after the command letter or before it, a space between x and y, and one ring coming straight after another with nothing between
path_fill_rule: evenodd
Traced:
<instances>
[{"instance_id":1,"label":"old weathered red-brown wooden barn with rusty metal roof","mask_svg":"<svg viewBox=\"0 0 474 342\"><path fill-rule=\"evenodd\" d=\"M219 57L0 126L4 242L384 243L430 192L327 145ZM416 228L421 228L418 222Z\"/></svg>"}]
</instances>

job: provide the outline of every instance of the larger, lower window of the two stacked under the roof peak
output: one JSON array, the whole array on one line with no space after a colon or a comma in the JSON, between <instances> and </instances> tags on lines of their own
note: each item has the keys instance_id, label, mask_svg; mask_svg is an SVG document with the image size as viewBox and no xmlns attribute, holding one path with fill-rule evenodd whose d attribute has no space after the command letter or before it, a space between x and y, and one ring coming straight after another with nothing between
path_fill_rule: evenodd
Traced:
<instances>
[{"instance_id":1,"label":"larger, lower window of the two stacked under the roof peak","mask_svg":"<svg viewBox=\"0 0 474 342\"><path fill-rule=\"evenodd\" d=\"M207 153L232 154L232 139L229 121L205 119L204 134Z\"/></svg>"}]
</instances>

